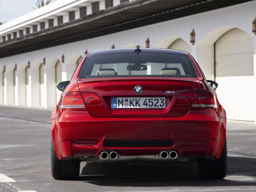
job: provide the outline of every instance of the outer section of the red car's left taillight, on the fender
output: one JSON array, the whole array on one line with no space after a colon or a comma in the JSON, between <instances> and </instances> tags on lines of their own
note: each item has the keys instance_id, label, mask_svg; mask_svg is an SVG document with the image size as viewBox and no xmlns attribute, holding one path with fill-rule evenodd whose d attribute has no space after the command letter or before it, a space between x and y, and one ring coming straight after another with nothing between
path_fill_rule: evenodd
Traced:
<instances>
[{"instance_id":1,"label":"outer section of the red car's left taillight, on the fender","mask_svg":"<svg viewBox=\"0 0 256 192\"><path fill-rule=\"evenodd\" d=\"M66 93L61 102L61 109L65 108L85 108L81 93L75 91Z\"/></svg>"}]
</instances>

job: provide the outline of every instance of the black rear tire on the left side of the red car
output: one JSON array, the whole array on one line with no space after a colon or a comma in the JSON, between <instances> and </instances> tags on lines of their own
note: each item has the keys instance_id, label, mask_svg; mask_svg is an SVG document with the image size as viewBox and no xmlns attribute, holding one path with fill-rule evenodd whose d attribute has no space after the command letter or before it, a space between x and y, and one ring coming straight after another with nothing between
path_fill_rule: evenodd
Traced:
<instances>
[{"instance_id":1,"label":"black rear tire on the left side of the red car","mask_svg":"<svg viewBox=\"0 0 256 192\"><path fill-rule=\"evenodd\" d=\"M59 160L52 141L51 148L52 177L55 179L76 179L79 177L79 160Z\"/></svg>"}]
</instances>

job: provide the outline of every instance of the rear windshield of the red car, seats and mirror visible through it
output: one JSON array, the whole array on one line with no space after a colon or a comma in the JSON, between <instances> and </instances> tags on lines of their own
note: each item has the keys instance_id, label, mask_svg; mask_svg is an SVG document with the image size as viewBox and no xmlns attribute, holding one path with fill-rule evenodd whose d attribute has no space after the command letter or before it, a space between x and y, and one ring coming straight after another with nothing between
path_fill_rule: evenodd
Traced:
<instances>
[{"instance_id":1,"label":"rear windshield of the red car, seats and mirror visible through it","mask_svg":"<svg viewBox=\"0 0 256 192\"><path fill-rule=\"evenodd\" d=\"M187 55L169 53L115 53L89 56L79 78L126 76L197 77Z\"/></svg>"}]
</instances>

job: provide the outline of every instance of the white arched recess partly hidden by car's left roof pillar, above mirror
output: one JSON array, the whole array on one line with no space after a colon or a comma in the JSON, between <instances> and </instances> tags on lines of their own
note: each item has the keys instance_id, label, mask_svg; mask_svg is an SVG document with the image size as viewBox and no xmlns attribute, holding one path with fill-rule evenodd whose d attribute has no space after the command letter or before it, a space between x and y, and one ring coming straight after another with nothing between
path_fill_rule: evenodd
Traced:
<instances>
[{"instance_id":1,"label":"white arched recess partly hidden by car's left roof pillar, above mirror","mask_svg":"<svg viewBox=\"0 0 256 192\"><path fill-rule=\"evenodd\" d=\"M73 55L70 56L70 58L67 60L67 64L66 64L66 70L67 70L67 80L69 81L75 70L76 67L78 66L78 64L80 63L80 61L82 60L82 56L79 55L78 53L75 53Z\"/></svg>"}]
</instances>

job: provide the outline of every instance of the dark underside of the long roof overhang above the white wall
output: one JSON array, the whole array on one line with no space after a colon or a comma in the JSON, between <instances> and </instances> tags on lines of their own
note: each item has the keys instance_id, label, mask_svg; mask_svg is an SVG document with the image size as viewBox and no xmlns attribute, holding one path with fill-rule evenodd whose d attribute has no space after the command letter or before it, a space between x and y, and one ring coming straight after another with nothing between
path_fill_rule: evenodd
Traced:
<instances>
[{"instance_id":1,"label":"dark underside of the long roof overhang above the white wall","mask_svg":"<svg viewBox=\"0 0 256 192\"><path fill-rule=\"evenodd\" d=\"M0 58L194 15L247 1L250 0L135 0L1 43Z\"/></svg>"}]
</instances>

